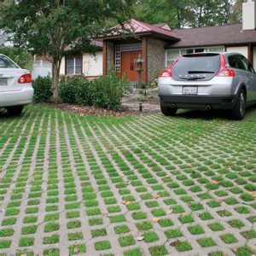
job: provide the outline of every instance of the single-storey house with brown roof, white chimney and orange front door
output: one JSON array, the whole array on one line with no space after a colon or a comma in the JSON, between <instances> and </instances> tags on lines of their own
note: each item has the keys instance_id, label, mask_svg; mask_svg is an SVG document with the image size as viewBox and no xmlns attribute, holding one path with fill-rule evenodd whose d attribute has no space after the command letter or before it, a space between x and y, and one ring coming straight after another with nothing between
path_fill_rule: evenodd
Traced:
<instances>
[{"instance_id":1,"label":"single-storey house with brown roof, white chimney and orange front door","mask_svg":"<svg viewBox=\"0 0 256 256\"><path fill-rule=\"evenodd\" d=\"M94 38L99 50L96 55L64 57L61 74L83 74L91 79L114 68L119 77L124 73L131 82L137 81L138 55L143 58L143 82L155 79L178 55L236 51L245 55L256 69L256 2L242 4L242 24L207 26L171 30L166 24L149 25L128 20L114 26L102 37Z\"/></svg>"}]
</instances>

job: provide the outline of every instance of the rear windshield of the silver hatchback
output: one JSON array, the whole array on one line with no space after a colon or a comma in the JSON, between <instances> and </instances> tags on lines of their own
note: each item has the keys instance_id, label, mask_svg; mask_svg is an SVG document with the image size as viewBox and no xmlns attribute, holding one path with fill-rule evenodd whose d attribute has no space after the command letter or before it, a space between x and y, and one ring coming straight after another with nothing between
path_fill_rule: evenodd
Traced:
<instances>
[{"instance_id":1,"label":"rear windshield of the silver hatchback","mask_svg":"<svg viewBox=\"0 0 256 256\"><path fill-rule=\"evenodd\" d=\"M176 80L210 80L220 68L219 54L183 55L172 67Z\"/></svg>"}]
</instances>

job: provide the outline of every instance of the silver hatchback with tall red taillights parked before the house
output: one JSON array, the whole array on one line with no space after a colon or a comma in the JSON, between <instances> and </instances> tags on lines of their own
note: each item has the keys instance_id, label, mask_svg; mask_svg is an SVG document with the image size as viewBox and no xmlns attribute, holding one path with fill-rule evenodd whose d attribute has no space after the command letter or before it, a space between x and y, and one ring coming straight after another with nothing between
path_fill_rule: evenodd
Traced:
<instances>
[{"instance_id":1,"label":"silver hatchback with tall red taillights parked before the house","mask_svg":"<svg viewBox=\"0 0 256 256\"><path fill-rule=\"evenodd\" d=\"M256 102L256 73L238 53L182 55L160 73L158 90L165 115L177 108L228 109L234 119L243 119Z\"/></svg>"}]
</instances>

